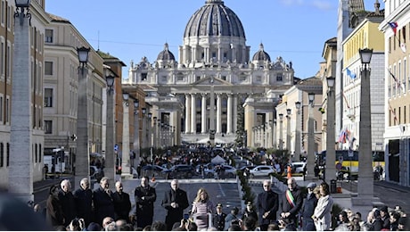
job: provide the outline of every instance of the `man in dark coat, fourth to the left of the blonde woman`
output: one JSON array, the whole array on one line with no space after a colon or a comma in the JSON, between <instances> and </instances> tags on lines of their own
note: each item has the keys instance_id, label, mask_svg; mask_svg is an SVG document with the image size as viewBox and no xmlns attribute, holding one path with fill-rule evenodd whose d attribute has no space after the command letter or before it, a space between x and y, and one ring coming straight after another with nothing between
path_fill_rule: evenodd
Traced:
<instances>
[{"instance_id":1,"label":"man in dark coat, fourth to the left of the blonde woman","mask_svg":"<svg viewBox=\"0 0 410 232\"><path fill-rule=\"evenodd\" d=\"M102 226L105 217L114 218L114 200L110 189L110 178L103 177L100 187L93 192L95 222Z\"/></svg>"}]
</instances>

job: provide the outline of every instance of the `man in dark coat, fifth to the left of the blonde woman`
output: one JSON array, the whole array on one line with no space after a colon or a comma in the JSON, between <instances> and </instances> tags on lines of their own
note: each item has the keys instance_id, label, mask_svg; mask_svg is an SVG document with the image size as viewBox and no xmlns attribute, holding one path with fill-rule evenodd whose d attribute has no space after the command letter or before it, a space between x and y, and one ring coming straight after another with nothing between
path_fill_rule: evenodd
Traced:
<instances>
[{"instance_id":1,"label":"man in dark coat, fifth to the left of the blonde woman","mask_svg":"<svg viewBox=\"0 0 410 232\"><path fill-rule=\"evenodd\" d=\"M86 226L93 220L93 191L90 189L88 178L82 178L79 188L74 191L74 202L76 203L77 217L84 219Z\"/></svg>"}]
</instances>

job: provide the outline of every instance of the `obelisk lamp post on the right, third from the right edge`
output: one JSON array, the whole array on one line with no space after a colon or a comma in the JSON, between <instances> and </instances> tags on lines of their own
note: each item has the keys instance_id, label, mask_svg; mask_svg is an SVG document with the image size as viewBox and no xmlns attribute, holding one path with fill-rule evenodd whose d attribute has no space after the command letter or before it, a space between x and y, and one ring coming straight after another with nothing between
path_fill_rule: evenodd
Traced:
<instances>
[{"instance_id":1,"label":"obelisk lamp post on the right, third from the right edge","mask_svg":"<svg viewBox=\"0 0 410 232\"><path fill-rule=\"evenodd\" d=\"M307 178L315 177L315 120L313 107L315 106L315 94L309 93L309 118L307 119Z\"/></svg>"}]
</instances>

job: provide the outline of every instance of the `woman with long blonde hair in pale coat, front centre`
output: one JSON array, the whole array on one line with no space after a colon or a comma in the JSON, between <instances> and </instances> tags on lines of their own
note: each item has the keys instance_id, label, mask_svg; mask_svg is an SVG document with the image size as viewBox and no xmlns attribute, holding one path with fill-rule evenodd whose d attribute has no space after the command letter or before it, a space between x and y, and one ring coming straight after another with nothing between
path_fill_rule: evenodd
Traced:
<instances>
[{"instance_id":1,"label":"woman with long blonde hair in pale coat, front centre","mask_svg":"<svg viewBox=\"0 0 410 232\"><path fill-rule=\"evenodd\" d=\"M193 221L198 227L198 230L204 230L209 228L212 224L209 224L209 220L212 218L212 214L215 212L214 203L209 200L209 195L205 188L198 189L195 199L193 200Z\"/></svg>"}]
</instances>

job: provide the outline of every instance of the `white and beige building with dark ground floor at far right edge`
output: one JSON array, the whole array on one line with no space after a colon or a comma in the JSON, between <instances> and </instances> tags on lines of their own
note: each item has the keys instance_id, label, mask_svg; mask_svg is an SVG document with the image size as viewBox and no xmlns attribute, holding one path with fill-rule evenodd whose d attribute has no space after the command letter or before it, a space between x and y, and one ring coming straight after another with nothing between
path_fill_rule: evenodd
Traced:
<instances>
[{"instance_id":1,"label":"white and beige building with dark ground floor at far right edge","mask_svg":"<svg viewBox=\"0 0 410 232\"><path fill-rule=\"evenodd\" d=\"M386 180L410 186L410 1L384 0L384 147ZM396 32L389 25L396 22ZM391 72L391 74L390 74ZM394 79L393 79L394 77Z\"/></svg>"}]
</instances>

